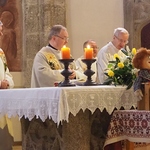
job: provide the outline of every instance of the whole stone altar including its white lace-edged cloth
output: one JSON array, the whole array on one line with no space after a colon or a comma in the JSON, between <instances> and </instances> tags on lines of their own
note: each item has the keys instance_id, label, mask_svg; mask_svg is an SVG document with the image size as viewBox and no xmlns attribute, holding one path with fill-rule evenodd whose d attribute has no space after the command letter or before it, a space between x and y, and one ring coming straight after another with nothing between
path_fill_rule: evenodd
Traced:
<instances>
[{"instance_id":1,"label":"whole stone altar including its white lace-edged cloth","mask_svg":"<svg viewBox=\"0 0 150 150\"><path fill-rule=\"evenodd\" d=\"M99 112L109 116L114 109L137 107L133 89L122 86L10 89L0 91L0 95L0 116L21 119L23 150L98 147L104 136L100 122L110 119Z\"/></svg>"}]
</instances>

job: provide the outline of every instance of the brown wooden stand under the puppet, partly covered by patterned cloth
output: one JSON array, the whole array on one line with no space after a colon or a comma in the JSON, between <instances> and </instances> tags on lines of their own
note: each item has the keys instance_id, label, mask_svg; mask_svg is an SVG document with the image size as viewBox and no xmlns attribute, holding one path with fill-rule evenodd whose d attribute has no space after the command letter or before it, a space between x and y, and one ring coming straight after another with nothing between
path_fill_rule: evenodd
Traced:
<instances>
[{"instance_id":1,"label":"brown wooden stand under the puppet, partly covered by patterned cloth","mask_svg":"<svg viewBox=\"0 0 150 150\"><path fill-rule=\"evenodd\" d=\"M144 96L138 102L138 110L150 110L150 82L144 84ZM134 150L134 143L126 141L126 150Z\"/></svg>"}]
</instances>

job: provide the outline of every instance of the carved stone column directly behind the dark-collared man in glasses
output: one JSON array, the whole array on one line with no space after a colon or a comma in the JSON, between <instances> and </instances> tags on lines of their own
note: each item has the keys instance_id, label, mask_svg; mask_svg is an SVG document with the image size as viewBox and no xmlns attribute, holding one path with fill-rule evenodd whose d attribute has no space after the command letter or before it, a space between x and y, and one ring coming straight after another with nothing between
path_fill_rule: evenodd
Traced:
<instances>
[{"instance_id":1,"label":"carved stone column directly behind the dark-collared man in glasses","mask_svg":"<svg viewBox=\"0 0 150 150\"><path fill-rule=\"evenodd\" d=\"M24 87L30 87L35 54L48 44L51 26L66 26L65 0L24 0L23 12L23 73Z\"/></svg>"}]
</instances>

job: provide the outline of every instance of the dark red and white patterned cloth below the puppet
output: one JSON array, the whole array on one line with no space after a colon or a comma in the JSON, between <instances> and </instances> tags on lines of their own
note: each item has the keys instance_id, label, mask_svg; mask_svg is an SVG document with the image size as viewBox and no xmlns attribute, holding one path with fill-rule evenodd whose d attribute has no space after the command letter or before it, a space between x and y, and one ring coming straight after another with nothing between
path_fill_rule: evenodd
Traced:
<instances>
[{"instance_id":1,"label":"dark red and white patterned cloth below the puppet","mask_svg":"<svg viewBox=\"0 0 150 150\"><path fill-rule=\"evenodd\" d=\"M126 139L150 143L150 111L119 110L113 113L105 146Z\"/></svg>"}]
</instances>

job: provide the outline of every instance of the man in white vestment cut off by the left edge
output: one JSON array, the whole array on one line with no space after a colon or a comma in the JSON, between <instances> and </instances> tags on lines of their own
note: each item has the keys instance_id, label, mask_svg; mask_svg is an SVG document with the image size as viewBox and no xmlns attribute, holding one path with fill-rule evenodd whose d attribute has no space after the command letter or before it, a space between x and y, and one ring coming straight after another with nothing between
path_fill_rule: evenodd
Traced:
<instances>
[{"instance_id":1,"label":"man in white vestment cut off by the left edge","mask_svg":"<svg viewBox=\"0 0 150 150\"><path fill-rule=\"evenodd\" d=\"M2 33L2 22L0 21L0 36ZM13 77L7 67L7 61L3 50L0 48L0 90L14 87ZM0 117L0 150L12 150L13 130L11 118Z\"/></svg>"}]
</instances>

